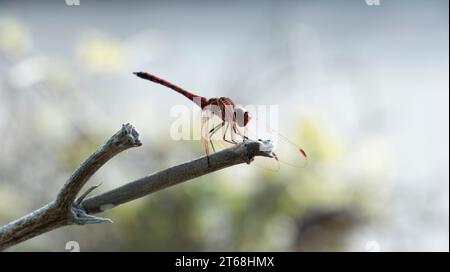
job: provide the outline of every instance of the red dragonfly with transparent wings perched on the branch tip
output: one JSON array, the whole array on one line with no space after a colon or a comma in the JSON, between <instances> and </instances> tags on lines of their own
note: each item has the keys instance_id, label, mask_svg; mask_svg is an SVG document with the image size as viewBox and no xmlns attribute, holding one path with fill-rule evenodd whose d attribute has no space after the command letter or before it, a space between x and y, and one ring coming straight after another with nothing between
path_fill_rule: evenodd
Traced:
<instances>
[{"instance_id":1,"label":"red dragonfly with transparent wings perched on the branch tip","mask_svg":"<svg viewBox=\"0 0 450 272\"><path fill-rule=\"evenodd\" d=\"M161 84L163 86L166 86L177 93L182 94L192 102L194 102L197 106L199 106L202 110L202 116L205 118L202 118L202 142L203 146L206 152L206 155L208 156L208 165L209 165L209 144L211 144L211 147L213 151L215 152L215 147L213 144L212 136L217 133L218 131L222 131L222 140L230 143L230 144L237 144L238 142L235 140L235 137L238 136L238 138L242 140L248 139L248 137L245 135L245 133L241 132L240 128L245 128L249 121L252 119L250 117L249 112L242 106L237 105L228 97L216 97L216 98L206 98L200 95L195 95L181 87L178 87L177 85L170 83L169 81L166 81L162 78L159 78L157 76L154 76L152 74L146 73L146 72L135 72L136 76L150 80L152 82ZM205 123L212 118L213 116L217 116L220 118L221 122L208 130L209 126L205 125ZM206 129L205 129L206 128ZM222 128L225 128L222 130ZM231 131L229 131L231 128ZM230 134L231 139L227 139L227 135ZM293 142L291 142L286 137L282 136L281 134L278 134L280 136L279 138L284 141L285 143L288 143L289 149L294 150L296 154L303 157L303 159L307 158L307 155L305 151L295 145ZM266 141L263 141L261 139L258 139L260 142L265 143ZM209 144L208 144L209 142ZM270 154L273 158L275 158L277 161L282 161L279 159L277 154L275 154L273 151L271 151ZM298 155L294 155L294 157L299 157ZM295 163L295 160L297 158L294 158L294 163L288 162L288 161L282 161L286 164L290 164L292 166L297 166L298 164ZM299 158L301 160L301 158ZM303 161L303 160L301 160ZM304 165L304 164L303 164Z\"/></svg>"}]
</instances>

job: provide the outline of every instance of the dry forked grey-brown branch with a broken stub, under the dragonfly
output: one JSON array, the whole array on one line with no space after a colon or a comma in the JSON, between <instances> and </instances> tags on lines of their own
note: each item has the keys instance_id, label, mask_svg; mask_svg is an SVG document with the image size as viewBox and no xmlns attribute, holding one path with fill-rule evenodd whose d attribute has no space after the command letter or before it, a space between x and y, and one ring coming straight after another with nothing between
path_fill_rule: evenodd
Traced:
<instances>
[{"instance_id":1,"label":"dry forked grey-brown branch with a broken stub, under the dragonfly","mask_svg":"<svg viewBox=\"0 0 450 272\"><path fill-rule=\"evenodd\" d=\"M255 156L271 157L270 151L261 151L260 142L245 141L210 155L209 166L205 156L84 200L97 186L91 187L77 199L86 182L108 160L128 148L140 145L139 134L134 127L123 125L75 170L54 201L0 228L0 251L62 226L112 222L92 214L226 167L250 163Z\"/></svg>"}]
</instances>

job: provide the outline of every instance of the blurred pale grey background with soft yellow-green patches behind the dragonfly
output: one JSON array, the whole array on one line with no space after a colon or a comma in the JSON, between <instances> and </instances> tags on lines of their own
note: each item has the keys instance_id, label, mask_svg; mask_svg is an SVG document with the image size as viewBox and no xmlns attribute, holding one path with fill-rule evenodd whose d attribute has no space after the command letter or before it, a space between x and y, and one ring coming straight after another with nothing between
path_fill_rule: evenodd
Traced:
<instances>
[{"instance_id":1,"label":"blurred pale grey background with soft yellow-green patches behind the dragonfly","mask_svg":"<svg viewBox=\"0 0 450 272\"><path fill-rule=\"evenodd\" d=\"M68 1L71 2L71 1ZM75 1L76 2L76 1ZM369 1L370 2L370 1ZM377 1L372 1L377 2ZM239 165L9 251L448 251L447 1L0 1L0 225L55 197L134 124L106 191L203 154L173 141L189 101L279 106L303 169Z\"/></svg>"}]
</instances>

